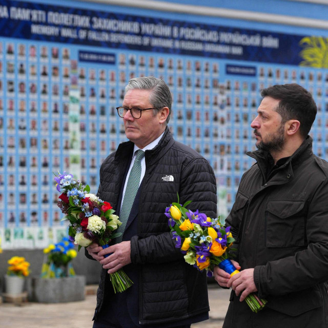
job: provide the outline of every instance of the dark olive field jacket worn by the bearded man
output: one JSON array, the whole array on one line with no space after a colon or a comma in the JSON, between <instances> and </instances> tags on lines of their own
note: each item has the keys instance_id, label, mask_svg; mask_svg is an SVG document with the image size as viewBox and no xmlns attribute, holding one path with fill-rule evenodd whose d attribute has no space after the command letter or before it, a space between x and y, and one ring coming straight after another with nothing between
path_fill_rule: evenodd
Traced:
<instances>
[{"instance_id":1,"label":"dark olive field jacket worn by the bearded man","mask_svg":"<svg viewBox=\"0 0 328 328\"><path fill-rule=\"evenodd\" d=\"M227 218L242 269L254 269L264 310L232 293L224 328L328 327L328 163L312 139L267 178L265 152L244 173Z\"/></svg>"}]
</instances>

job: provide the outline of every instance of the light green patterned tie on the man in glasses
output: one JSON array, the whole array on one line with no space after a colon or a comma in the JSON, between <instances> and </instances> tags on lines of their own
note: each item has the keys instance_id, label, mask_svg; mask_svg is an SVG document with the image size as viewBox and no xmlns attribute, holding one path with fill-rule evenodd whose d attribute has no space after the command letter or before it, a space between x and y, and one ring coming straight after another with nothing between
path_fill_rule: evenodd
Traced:
<instances>
[{"instance_id":1,"label":"light green patterned tie on the man in glasses","mask_svg":"<svg viewBox=\"0 0 328 328\"><path fill-rule=\"evenodd\" d=\"M125 195L122 203L122 208L119 213L119 220L122 222L122 224L118 228L117 232L121 232L122 235L129 219L135 195L137 194L137 191L139 189L141 176L141 159L145 156L145 152L139 149L136 151L136 155L137 156L134 160L133 167L130 171L127 188L125 190ZM122 235L116 238L117 242L122 241Z\"/></svg>"}]
</instances>

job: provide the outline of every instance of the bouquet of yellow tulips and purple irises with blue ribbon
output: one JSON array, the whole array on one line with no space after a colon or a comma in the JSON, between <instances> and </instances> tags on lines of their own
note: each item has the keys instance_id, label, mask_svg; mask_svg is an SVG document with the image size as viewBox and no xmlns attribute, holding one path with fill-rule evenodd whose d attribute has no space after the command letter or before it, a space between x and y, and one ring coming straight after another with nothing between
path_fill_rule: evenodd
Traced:
<instances>
[{"instance_id":1,"label":"bouquet of yellow tulips and purple irises with blue ribbon","mask_svg":"<svg viewBox=\"0 0 328 328\"><path fill-rule=\"evenodd\" d=\"M212 277L215 265L231 276L235 275L239 271L229 258L229 251L234 250L231 247L235 240L230 227L224 227L219 218L211 219L198 210L187 210L186 206L190 202L181 205L178 196L178 202L172 203L165 210L175 247L185 254L187 263L194 265L199 271L205 270L208 277ZM267 303L255 293L248 295L245 301L253 312L260 311Z\"/></svg>"}]
</instances>

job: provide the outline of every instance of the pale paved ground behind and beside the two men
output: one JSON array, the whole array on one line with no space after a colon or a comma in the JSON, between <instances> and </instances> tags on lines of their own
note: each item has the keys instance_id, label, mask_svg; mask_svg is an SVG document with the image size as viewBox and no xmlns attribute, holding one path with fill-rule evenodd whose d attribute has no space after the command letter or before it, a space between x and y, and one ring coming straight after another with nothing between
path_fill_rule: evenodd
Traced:
<instances>
[{"instance_id":1,"label":"pale paved ground behind and beside the two men","mask_svg":"<svg viewBox=\"0 0 328 328\"><path fill-rule=\"evenodd\" d=\"M210 319L195 323L192 328L221 328L228 309L229 296L229 290L210 284ZM70 303L0 303L0 328L91 328L95 305L95 295L87 295L84 301Z\"/></svg>"}]
</instances>

